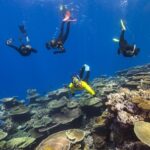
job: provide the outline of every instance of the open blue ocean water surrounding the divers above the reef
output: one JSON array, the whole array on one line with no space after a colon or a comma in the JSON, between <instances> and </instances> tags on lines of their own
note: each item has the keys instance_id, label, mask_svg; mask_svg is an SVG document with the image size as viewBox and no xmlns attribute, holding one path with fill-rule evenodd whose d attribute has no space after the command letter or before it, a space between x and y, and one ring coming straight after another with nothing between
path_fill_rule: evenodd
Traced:
<instances>
[{"instance_id":1,"label":"open blue ocean water surrounding the divers above the reef","mask_svg":"<svg viewBox=\"0 0 150 150\"><path fill-rule=\"evenodd\" d=\"M45 42L59 33L61 5L72 10L77 22L71 24L67 52L53 55ZM28 88L45 93L62 87L85 63L91 67L91 80L149 63L149 16L148 0L0 0L0 98L24 98ZM126 22L126 38L141 48L137 57L117 55L118 44L112 38L120 34L121 18ZM22 23L38 50L29 57L5 46L10 37L17 42Z\"/></svg>"}]
</instances>

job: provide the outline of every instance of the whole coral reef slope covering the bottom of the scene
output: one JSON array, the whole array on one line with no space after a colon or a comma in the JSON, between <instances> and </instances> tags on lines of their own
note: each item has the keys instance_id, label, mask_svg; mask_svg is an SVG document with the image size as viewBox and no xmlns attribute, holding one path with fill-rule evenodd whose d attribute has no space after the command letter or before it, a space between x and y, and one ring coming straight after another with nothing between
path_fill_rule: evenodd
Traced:
<instances>
[{"instance_id":1,"label":"whole coral reef slope covering the bottom of the scene","mask_svg":"<svg viewBox=\"0 0 150 150\"><path fill-rule=\"evenodd\" d=\"M91 82L96 97L66 88L1 99L1 150L149 150L150 65Z\"/></svg>"}]
</instances>

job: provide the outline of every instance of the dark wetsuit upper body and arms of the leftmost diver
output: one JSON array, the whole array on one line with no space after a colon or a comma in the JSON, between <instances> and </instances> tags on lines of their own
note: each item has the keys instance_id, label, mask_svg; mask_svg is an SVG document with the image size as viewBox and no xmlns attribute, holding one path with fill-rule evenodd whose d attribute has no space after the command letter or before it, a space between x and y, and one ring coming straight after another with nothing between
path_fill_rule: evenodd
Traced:
<instances>
[{"instance_id":1,"label":"dark wetsuit upper body and arms of the leftmost diver","mask_svg":"<svg viewBox=\"0 0 150 150\"><path fill-rule=\"evenodd\" d=\"M37 50L33 49L32 47L28 47L27 45L23 45L23 44L20 47L17 47L12 44L10 44L8 46L15 49L22 56L29 56L29 55L31 55L32 52L37 53Z\"/></svg>"}]
</instances>

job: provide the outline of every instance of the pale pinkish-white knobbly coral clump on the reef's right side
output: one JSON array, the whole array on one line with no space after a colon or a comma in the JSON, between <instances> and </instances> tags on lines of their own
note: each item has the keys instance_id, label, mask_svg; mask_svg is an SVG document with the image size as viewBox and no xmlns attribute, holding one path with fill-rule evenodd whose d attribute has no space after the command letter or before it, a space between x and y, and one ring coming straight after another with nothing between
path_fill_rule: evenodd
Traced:
<instances>
[{"instance_id":1,"label":"pale pinkish-white knobbly coral clump on the reef's right side","mask_svg":"<svg viewBox=\"0 0 150 150\"><path fill-rule=\"evenodd\" d=\"M141 91L135 92L128 89L120 89L119 93L108 95L106 105L112 112L117 114L115 116L118 122L133 125L134 122L142 121L147 118L144 112L145 109L140 110L139 107L134 104L137 103L137 101L143 103L142 99L139 99L140 93Z\"/></svg>"}]
</instances>

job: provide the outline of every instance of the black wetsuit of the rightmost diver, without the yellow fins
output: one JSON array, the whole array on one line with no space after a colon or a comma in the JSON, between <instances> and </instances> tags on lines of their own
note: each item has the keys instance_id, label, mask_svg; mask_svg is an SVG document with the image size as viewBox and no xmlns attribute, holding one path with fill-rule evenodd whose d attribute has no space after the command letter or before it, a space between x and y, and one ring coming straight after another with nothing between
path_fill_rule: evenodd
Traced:
<instances>
[{"instance_id":1,"label":"black wetsuit of the rightmost diver, without the yellow fins","mask_svg":"<svg viewBox=\"0 0 150 150\"><path fill-rule=\"evenodd\" d=\"M135 48L134 45L129 45L124 39L124 33L125 31L122 30L119 40L118 54L120 55L122 53L125 57L133 57L138 55L139 48Z\"/></svg>"}]
</instances>

